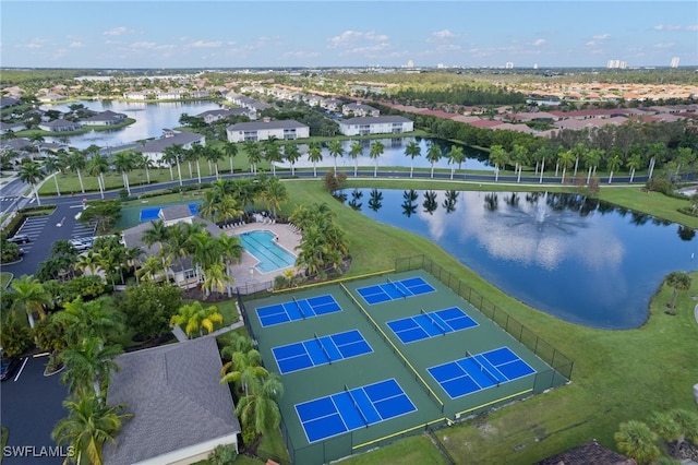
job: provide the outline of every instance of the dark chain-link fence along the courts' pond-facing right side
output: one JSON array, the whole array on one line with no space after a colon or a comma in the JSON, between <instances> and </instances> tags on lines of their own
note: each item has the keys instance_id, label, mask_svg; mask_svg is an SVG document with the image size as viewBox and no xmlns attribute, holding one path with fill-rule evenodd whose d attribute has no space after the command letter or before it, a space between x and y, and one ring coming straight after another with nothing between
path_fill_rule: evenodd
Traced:
<instances>
[{"instance_id":1,"label":"dark chain-link fence along the courts' pond-facing right side","mask_svg":"<svg viewBox=\"0 0 698 465\"><path fill-rule=\"evenodd\" d=\"M424 270L429 272L552 368L552 372L550 373L538 373L533 386L534 393L564 384L571 380L574 361L570 358L555 349L551 344L524 326L524 324L519 323L507 312L485 299L480 293L461 282L449 271L424 255L397 259L395 261L396 272L413 270Z\"/></svg>"}]
</instances>

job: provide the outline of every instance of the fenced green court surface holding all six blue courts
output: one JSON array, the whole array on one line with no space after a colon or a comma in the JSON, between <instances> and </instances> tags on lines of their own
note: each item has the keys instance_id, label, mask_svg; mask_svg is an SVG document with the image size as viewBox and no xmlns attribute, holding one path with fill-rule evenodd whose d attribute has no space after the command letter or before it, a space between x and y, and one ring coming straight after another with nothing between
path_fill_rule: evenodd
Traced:
<instances>
[{"instance_id":1,"label":"fenced green court surface holding all six blue courts","mask_svg":"<svg viewBox=\"0 0 698 465\"><path fill-rule=\"evenodd\" d=\"M322 464L568 380L424 270L244 301L294 463ZM339 310L337 310L339 307Z\"/></svg>"}]
</instances>

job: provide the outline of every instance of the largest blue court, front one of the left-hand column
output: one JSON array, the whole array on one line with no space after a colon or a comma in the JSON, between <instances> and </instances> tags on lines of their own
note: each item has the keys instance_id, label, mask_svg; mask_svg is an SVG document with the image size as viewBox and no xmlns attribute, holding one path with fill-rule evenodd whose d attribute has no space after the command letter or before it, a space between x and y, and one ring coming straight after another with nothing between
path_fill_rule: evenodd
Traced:
<instances>
[{"instance_id":1,"label":"largest blue court, front one of the left-hand column","mask_svg":"<svg viewBox=\"0 0 698 465\"><path fill-rule=\"evenodd\" d=\"M296 404L308 442L322 441L416 410L394 379L351 390L345 385L337 394Z\"/></svg>"}]
</instances>

